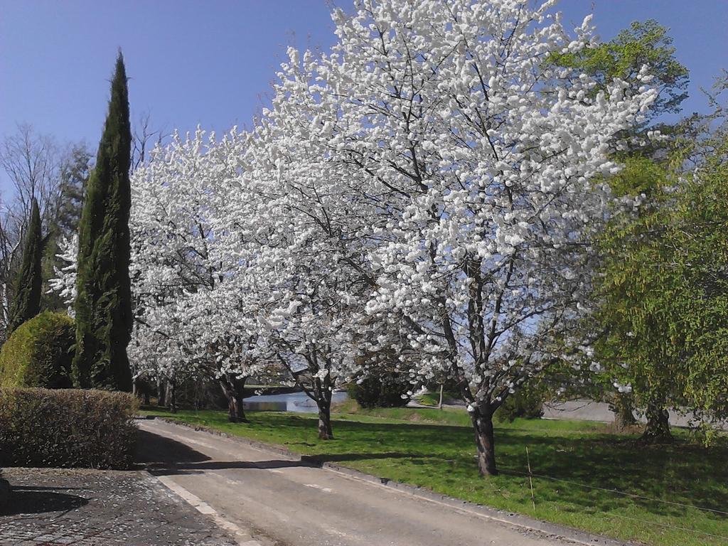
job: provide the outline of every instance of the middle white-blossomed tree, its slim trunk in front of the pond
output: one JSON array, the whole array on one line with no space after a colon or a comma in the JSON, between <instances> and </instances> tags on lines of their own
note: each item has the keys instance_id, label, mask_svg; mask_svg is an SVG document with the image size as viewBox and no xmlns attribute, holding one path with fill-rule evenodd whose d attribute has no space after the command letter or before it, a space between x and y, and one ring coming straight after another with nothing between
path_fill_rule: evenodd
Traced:
<instances>
[{"instance_id":1,"label":"middle white-blossomed tree, its slim trunk in front of the pond","mask_svg":"<svg viewBox=\"0 0 728 546\"><path fill-rule=\"evenodd\" d=\"M317 404L319 438L329 440L331 397L357 365L352 341L371 287L357 272L361 239L352 228L356 204L340 183L346 173L312 138L310 108L317 106L307 77L288 79L289 68L298 70L280 74L274 108L250 135L245 157L244 178L260 196L248 263L269 293L259 309L264 345Z\"/></svg>"}]
</instances>

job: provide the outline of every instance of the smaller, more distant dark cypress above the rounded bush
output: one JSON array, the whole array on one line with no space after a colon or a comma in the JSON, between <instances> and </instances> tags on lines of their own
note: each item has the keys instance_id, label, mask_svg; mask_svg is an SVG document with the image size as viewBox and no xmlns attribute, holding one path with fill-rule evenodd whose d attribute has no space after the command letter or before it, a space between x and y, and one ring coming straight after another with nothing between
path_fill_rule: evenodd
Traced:
<instances>
[{"instance_id":1,"label":"smaller, more distant dark cypress above the rounded bush","mask_svg":"<svg viewBox=\"0 0 728 546\"><path fill-rule=\"evenodd\" d=\"M41 258L43 258L43 238L41 237L41 214L38 202L33 198L31 204L31 223L25 236L23 264L15 279L15 299L8 334L35 317L41 310Z\"/></svg>"}]
</instances>

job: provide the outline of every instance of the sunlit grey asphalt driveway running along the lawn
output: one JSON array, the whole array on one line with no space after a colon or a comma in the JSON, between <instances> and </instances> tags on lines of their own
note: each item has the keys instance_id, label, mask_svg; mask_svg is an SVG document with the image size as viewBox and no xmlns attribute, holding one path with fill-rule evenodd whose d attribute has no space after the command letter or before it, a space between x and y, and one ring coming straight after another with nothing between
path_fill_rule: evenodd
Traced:
<instances>
[{"instance_id":1,"label":"sunlit grey asphalt driveway running along the lawn","mask_svg":"<svg viewBox=\"0 0 728 546\"><path fill-rule=\"evenodd\" d=\"M573 545L208 432L140 427L139 460L240 545Z\"/></svg>"}]
</instances>

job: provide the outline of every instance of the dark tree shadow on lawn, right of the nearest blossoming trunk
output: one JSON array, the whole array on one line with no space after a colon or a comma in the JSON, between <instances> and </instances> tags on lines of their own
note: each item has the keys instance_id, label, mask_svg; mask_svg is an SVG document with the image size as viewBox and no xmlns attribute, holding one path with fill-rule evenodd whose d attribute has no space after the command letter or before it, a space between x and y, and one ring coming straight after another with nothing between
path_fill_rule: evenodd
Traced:
<instances>
[{"instance_id":1,"label":"dark tree shadow on lawn, right of the nearest blossoming trunk","mask_svg":"<svg viewBox=\"0 0 728 546\"><path fill-rule=\"evenodd\" d=\"M680 505L689 505L716 510L715 518L727 517L719 513L728 506L724 448L706 449L679 440L670 446L644 446L610 435L513 438L507 433L500 444L502 468L521 472L521 478L513 478L521 480L529 447L532 472L547 477L537 478L538 487L553 502L588 503L599 511L639 505L650 513L676 517L686 512Z\"/></svg>"}]
</instances>

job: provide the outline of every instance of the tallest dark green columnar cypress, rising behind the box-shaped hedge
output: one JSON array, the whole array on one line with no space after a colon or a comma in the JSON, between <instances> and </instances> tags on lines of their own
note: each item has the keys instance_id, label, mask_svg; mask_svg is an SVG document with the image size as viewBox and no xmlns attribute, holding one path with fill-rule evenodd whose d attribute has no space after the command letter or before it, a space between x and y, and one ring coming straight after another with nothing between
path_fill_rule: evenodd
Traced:
<instances>
[{"instance_id":1,"label":"tallest dark green columnar cypress, rising behind the box-shaped hedge","mask_svg":"<svg viewBox=\"0 0 728 546\"><path fill-rule=\"evenodd\" d=\"M76 387L131 389L127 358L132 329L129 210L132 135L121 52L108 115L88 181L76 277Z\"/></svg>"}]
</instances>

